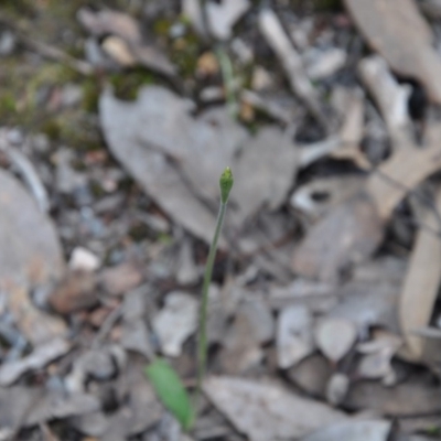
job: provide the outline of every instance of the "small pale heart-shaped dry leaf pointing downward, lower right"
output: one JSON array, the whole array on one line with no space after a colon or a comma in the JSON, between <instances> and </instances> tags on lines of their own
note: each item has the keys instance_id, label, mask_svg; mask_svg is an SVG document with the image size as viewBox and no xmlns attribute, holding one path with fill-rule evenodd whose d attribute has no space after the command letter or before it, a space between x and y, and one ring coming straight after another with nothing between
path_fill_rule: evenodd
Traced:
<instances>
[{"instance_id":1,"label":"small pale heart-shaped dry leaf pointing downward, lower right","mask_svg":"<svg viewBox=\"0 0 441 441\"><path fill-rule=\"evenodd\" d=\"M357 337L357 329L345 319L323 318L315 327L315 343L332 362L343 358Z\"/></svg>"}]
</instances>

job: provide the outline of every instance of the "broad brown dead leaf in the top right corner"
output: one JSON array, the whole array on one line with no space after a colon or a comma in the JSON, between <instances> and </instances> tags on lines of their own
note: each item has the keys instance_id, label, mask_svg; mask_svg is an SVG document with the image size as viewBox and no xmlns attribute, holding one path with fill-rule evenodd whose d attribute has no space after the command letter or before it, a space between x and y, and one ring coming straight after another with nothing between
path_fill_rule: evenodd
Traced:
<instances>
[{"instance_id":1,"label":"broad brown dead leaf in the top right corner","mask_svg":"<svg viewBox=\"0 0 441 441\"><path fill-rule=\"evenodd\" d=\"M441 103L441 58L433 35L412 0L346 0L346 7L370 46L398 74L421 82Z\"/></svg>"}]
</instances>

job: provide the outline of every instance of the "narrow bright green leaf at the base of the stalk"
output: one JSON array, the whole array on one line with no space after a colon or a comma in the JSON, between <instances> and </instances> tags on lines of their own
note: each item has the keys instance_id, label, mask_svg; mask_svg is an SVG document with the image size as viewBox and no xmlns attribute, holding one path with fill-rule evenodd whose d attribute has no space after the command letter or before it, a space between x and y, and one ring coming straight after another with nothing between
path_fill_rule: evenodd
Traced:
<instances>
[{"instance_id":1,"label":"narrow bright green leaf at the base of the stalk","mask_svg":"<svg viewBox=\"0 0 441 441\"><path fill-rule=\"evenodd\" d=\"M162 358L157 358L146 367L146 375L162 401L173 413L184 430L194 423L194 409L176 372Z\"/></svg>"}]
</instances>

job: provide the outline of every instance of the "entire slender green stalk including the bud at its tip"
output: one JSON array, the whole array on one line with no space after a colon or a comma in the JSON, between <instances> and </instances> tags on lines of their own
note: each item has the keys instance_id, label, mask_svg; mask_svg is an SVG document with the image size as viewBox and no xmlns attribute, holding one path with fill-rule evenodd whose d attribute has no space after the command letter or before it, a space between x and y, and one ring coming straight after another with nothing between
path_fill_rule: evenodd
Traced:
<instances>
[{"instance_id":1,"label":"entire slender green stalk including the bud at its tip","mask_svg":"<svg viewBox=\"0 0 441 441\"><path fill-rule=\"evenodd\" d=\"M233 173L229 166L227 166L220 175L219 186L220 186L220 205L219 213L217 215L216 229L214 232L213 240L209 246L209 252L207 262L205 266L204 282L202 286L202 303L201 303L201 314L200 314L200 333L197 341L197 387L196 387L196 405L201 397L202 381L205 376L206 370L206 359L207 359L207 306L208 306L208 288L212 281L214 259L216 257L217 241L220 236L222 225L224 223L225 212L228 203L229 192L233 187Z\"/></svg>"}]
</instances>

